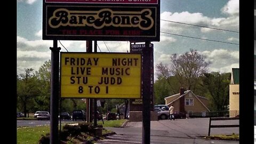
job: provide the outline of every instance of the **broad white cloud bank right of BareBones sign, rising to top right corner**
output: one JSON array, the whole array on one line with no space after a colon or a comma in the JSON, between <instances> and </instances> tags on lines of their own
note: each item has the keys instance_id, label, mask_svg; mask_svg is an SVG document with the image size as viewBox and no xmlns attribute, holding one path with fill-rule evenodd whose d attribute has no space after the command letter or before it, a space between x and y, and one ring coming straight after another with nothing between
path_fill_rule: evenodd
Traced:
<instances>
[{"instance_id":1,"label":"broad white cloud bank right of BareBones sign, rising to top right corner","mask_svg":"<svg viewBox=\"0 0 256 144\"><path fill-rule=\"evenodd\" d=\"M163 12L161 13L161 31L181 34L183 31L189 29L196 30L194 26L182 25L181 23L188 23L191 25L198 25L204 27L212 27L219 29L227 29L238 31L239 29L239 2L238 0L229 1L221 10L228 13L227 18L209 18L203 13L189 13L185 12ZM164 21L167 20L167 21ZM174 21L174 22L170 22ZM175 23L181 22L181 23ZM201 28L202 33L210 33L216 29Z\"/></svg>"}]
</instances>

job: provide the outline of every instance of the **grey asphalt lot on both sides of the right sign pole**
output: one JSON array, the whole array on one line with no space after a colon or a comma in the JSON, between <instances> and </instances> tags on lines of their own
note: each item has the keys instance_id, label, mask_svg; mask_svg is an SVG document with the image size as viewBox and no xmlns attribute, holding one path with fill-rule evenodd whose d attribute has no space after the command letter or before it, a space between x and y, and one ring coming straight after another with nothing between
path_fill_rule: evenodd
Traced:
<instances>
[{"instance_id":1,"label":"grey asphalt lot on both sides of the right sign pole","mask_svg":"<svg viewBox=\"0 0 256 144\"><path fill-rule=\"evenodd\" d=\"M239 119L228 121L213 121L212 124L239 124ZM97 143L141 143L142 122L128 122L124 128L107 127L116 132L105 140ZM191 119L169 119L161 121L151 121L150 123L150 143L239 143L239 141L223 140L205 140L202 137L208 134L209 118L191 118ZM239 127L226 127L211 129L211 134L239 134Z\"/></svg>"}]
</instances>

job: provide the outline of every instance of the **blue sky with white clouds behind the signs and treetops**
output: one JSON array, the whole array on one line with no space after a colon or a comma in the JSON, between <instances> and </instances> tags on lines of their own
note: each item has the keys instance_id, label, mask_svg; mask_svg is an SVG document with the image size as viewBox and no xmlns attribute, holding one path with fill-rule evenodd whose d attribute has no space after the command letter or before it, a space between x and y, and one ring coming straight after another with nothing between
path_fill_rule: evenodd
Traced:
<instances>
[{"instance_id":1,"label":"blue sky with white clouds behind the signs and treetops","mask_svg":"<svg viewBox=\"0 0 256 144\"><path fill-rule=\"evenodd\" d=\"M209 73L239 68L239 0L162 0L160 7L160 42L152 42L155 66L193 49L211 62ZM51 59L53 41L42 40L42 9L42 0L17 0L17 74L37 71ZM60 42L68 52L85 52L86 41ZM130 42L104 42L98 41L98 52L130 51ZM66 52L61 44L60 51Z\"/></svg>"}]
</instances>

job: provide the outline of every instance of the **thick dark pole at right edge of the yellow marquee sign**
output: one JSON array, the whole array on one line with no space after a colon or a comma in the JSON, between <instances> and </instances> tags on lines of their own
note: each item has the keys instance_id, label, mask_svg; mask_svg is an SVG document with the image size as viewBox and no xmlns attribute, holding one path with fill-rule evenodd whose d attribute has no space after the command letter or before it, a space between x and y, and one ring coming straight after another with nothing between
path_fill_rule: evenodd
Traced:
<instances>
[{"instance_id":1,"label":"thick dark pole at right edge of the yellow marquee sign","mask_svg":"<svg viewBox=\"0 0 256 144\"><path fill-rule=\"evenodd\" d=\"M149 41L142 49L142 144L150 144L150 51Z\"/></svg>"}]
</instances>

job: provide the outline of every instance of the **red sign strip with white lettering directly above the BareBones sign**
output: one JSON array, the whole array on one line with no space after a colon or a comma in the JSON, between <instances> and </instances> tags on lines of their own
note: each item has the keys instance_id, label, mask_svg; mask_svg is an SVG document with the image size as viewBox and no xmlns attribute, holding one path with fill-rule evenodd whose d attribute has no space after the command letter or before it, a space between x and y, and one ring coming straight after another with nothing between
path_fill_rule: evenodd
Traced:
<instances>
[{"instance_id":1,"label":"red sign strip with white lettering directly above the BareBones sign","mask_svg":"<svg viewBox=\"0 0 256 144\"><path fill-rule=\"evenodd\" d=\"M158 4L158 0L45 0L46 3Z\"/></svg>"}]
</instances>

